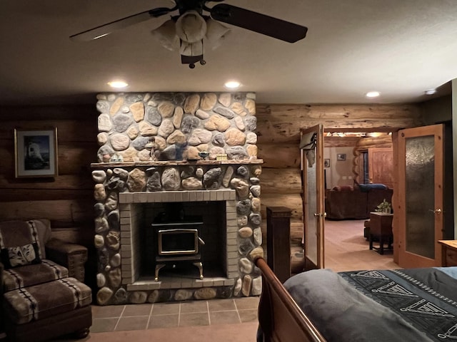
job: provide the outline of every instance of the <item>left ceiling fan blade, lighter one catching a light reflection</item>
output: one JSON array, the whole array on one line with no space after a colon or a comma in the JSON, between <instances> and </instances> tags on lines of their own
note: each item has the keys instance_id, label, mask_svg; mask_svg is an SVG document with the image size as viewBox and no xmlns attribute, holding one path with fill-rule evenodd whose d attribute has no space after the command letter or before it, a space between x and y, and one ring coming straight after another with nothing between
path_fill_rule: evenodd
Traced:
<instances>
[{"instance_id":1,"label":"left ceiling fan blade, lighter one catching a light reflection","mask_svg":"<svg viewBox=\"0 0 457 342\"><path fill-rule=\"evenodd\" d=\"M76 33L73 36L70 36L70 39L73 41L92 41L94 39L107 36L107 35L109 35L109 33L113 32L115 30L119 30L119 28L125 28L127 26L141 23L141 21L146 21L151 18L157 18L159 16L163 16L164 14L174 11L175 9L177 9L176 6L172 9L169 9L167 7L159 7L157 9L150 9L149 11L137 13L132 16L126 16L123 19L111 21L111 23L97 26L97 27L91 28L89 30L80 32L80 33Z\"/></svg>"}]
</instances>

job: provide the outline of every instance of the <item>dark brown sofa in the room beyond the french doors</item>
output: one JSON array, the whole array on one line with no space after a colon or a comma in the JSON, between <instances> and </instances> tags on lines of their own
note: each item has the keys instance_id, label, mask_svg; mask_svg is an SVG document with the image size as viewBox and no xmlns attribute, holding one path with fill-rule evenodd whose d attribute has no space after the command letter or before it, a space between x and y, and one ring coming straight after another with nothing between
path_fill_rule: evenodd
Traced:
<instances>
[{"instance_id":1,"label":"dark brown sofa in the room beyond the french doors","mask_svg":"<svg viewBox=\"0 0 457 342\"><path fill-rule=\"evenodd\" d=\"M392 202L393 190L385 185L333 187L326 190L327 219L368 219L378 204Z\"/></svg>"}]
</instances>

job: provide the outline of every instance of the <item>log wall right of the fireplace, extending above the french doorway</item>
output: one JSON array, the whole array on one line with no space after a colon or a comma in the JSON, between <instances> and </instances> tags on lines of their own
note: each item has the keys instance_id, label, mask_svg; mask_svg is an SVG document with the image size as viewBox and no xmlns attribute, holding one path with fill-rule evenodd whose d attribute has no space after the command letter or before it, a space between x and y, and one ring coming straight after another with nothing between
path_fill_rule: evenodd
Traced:
<instances>
[{"instance_id":1,"label":"log wall right of the fireplace, extending above the french doorway","mask_svg":"<svg viewBox=\"0 0 457 342\"><path fill-rule=\"evenodd\" d=\"M322 124L330 132L373 132L423 125L421 105L273 105L257 104L258 157L261 175L262 214L266 207L292 210L291 224L300 227L303 216L300 171L300 128ZM326 145L356 145L349 138L329 138ZM369 145L370 142L367 143ZM390 142L391 143L391 142ZM290 185L283 183L290 182ZM265 224L263 225L265 231ZM293 234L291 234L293 235Z\"/></svg>"}]
</instances>

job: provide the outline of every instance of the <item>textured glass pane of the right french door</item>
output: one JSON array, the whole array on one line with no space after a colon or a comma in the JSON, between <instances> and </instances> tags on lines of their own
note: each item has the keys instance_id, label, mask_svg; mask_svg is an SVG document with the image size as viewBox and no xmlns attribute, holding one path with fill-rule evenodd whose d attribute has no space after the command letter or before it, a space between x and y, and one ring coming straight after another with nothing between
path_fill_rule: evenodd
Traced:
<instances>
[{"instance_id":1,"label":"textured glass pane of the right french door","mask_svg":"<svg viewBox=\"0 0 457 342\"><path fill-rule=\"evenodd\" d=\"M435 257L435 141L406 139L406 251Z\"/></svg>"}]
</instances>

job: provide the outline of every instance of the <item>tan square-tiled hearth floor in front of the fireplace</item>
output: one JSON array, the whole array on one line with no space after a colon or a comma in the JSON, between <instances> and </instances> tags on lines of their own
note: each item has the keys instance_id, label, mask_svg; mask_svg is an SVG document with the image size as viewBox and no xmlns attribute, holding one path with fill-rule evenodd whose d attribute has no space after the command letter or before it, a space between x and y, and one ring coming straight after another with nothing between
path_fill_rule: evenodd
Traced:
<instances>
[{"instance_id":1,"label":"tan square-tiled hearth floor in front of the fireplace","mask_svg":"<svg viewBox=\"0 0 457 342\"><path fill-rule=\"evenodd\" d=\"M91 333L257 321L258 297L92 306Z\"/></svg>"}]
</instances>

